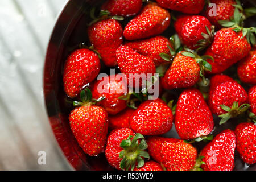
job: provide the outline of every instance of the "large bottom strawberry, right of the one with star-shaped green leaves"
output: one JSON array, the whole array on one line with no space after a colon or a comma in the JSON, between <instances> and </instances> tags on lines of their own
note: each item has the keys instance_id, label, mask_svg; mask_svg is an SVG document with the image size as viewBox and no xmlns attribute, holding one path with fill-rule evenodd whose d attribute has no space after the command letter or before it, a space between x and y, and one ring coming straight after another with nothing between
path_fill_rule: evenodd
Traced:
<instances>
[{"instance_id":1,"label":"large bottom strawberry, right of the one with star-shaped green leaves","mask_svg":"<svg viewBox=\"0 0 256 182\"><path fill-rule=\"evenodd\" d=\"M195 166L196 148L181 139L150 137L147 144L150 156L167 171L189 171Z\"/></svg>"}]
</instances>

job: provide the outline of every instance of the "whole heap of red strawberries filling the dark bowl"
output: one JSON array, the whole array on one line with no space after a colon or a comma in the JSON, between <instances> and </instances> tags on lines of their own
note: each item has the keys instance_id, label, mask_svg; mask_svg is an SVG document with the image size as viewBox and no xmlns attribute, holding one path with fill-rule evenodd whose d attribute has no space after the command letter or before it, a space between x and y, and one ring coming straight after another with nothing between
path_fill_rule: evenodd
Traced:
<instances>
[{"instance_id":1,"label":"whole heap of red strawberries filling the dark bowl","mask_svg":"<svg viewBox=\"0 0 256 182\"><path fill-rule=\"evenodd\" d=\"M210 0L217 7L211 16L208 3L109 0L97 17L91 13L92 45L72 52L63 72L65 93L80 100L69 122L85 154L105 152L110 166L140 171L233 170L235 150L256 163L256 28L243 27L256 10ZM176 34L162 36L170 26ZM123 94L127 80L118 75L106 75L101 85L101 61L127 76L159 73L159 97ZM214 127L231 118L240 121L236 129L213 137ZM172 127L179 139L160 136Z\"/></svg>"}]
</instances>

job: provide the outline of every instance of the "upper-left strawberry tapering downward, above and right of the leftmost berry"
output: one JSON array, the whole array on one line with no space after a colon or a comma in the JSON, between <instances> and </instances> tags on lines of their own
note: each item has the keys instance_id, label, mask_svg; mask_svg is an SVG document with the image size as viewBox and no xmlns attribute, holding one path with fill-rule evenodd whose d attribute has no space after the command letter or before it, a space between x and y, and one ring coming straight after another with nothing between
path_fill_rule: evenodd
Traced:
<instances>
[{"instance_id":1,"label":"upper-left strawberry tapering downward, above and right of the leftmost berry","mask_svg":"<svg viewBox=\"0 0 256 182\"><path fill-rule=\"evenodd\" d=\"M100 20L88 28L90 43L108 67L117 65L115 51L123 42L122 32L121 24L115 19Z\"/></svg>"}]
</instances>

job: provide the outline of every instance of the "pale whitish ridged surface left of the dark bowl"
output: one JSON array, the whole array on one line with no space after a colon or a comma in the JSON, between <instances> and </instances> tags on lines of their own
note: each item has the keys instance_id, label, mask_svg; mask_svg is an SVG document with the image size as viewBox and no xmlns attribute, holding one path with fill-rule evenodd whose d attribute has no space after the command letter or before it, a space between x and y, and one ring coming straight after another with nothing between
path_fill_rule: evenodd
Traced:
<instances>
[{"instance_id":1,"label":"pale whitish ridged surface left of the dark bowl","mask_svg":"<svg viewBox=\"0 0 256 182\"><path fill-rule=\"evenodd\" d=\"M43 104L43 64L67 0L0 1L0 170L69 169ZM46 165L38 152L46 151Z\"/></svg>"}]
</instances>

